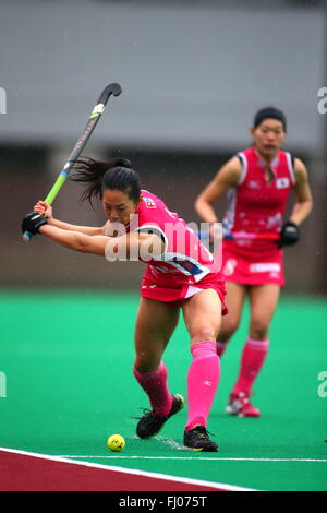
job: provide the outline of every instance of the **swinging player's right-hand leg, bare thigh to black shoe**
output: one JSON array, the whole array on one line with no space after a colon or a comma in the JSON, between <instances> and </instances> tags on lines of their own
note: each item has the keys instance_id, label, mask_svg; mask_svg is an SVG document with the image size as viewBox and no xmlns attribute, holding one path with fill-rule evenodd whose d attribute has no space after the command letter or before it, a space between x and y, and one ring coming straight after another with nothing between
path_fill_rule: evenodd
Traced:
<instances>
[{"instance_id":1,"label":"swinging player's right-hand leg, bare thigh to black shoe","mask_svg":"<svg viewBox=\"0 0 327 513\"><path fill-rule=\"evenodd\" d=\"M221 301L213 289L203 290L183 306L193 361L187 373L187 422L184 444L198 451L217 451L206 427L220 379L216 337L221 324Z\"/></svg>"}]
</instances>

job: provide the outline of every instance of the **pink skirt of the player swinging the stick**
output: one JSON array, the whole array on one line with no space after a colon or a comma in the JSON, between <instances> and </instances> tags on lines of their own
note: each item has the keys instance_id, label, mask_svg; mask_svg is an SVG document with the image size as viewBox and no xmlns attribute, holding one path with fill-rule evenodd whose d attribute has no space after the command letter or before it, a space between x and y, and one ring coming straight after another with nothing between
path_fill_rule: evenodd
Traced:
<instances>
[{"instance_id":1,"label":"pink skirt of the player swinging the stick","mask_svg":"<svg viewBox=\"0 0 327 513\"><path fill-rule=\"evenodd\" d=\"M148 273L145 273L141 284L141 297L167 302L172 307L181 307L186 299L207 288L216 290L221 301L221 313L226 315L228 309L225 305L225 278L221 273L209 273L196 284L190 285L186 283L175 287L168 287L166 284L159 285L150 278Z\"/></svg>"}]
</instances>

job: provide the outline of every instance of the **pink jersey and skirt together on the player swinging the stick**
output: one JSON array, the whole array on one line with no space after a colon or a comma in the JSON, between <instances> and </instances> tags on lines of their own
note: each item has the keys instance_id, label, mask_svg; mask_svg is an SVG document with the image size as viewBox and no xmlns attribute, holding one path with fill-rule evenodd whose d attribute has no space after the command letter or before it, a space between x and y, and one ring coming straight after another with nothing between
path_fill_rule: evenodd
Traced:
<instances>
[{"instance_id":1,"label":"pink jersey and skirt together on the player swinging the stick","mask_svg":"<svg viewBox=\"0 0 327 513\"><path fill-rule=\"evenodd\" d=\"M211 288L221 299L222 312L227 313L221 262L202 244L177 213L169 211L162 200L142 190L142 201L130 230L155 232L166 244L165 254L147 262L142 297L181 306L184 299ZM145 261L142 256L140 260Z\"/></svg>"}]
</instances>

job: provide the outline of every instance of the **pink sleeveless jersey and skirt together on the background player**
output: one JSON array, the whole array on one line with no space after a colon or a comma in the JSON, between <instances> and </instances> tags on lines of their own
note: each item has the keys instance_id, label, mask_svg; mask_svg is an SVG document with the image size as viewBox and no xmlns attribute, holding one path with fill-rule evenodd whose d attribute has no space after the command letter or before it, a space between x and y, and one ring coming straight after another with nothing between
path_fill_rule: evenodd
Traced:
<instances>
[{"instance_id":1,"label":"pink sleeveless jersey and skirt together on the background player","mask_svg":"<svg viewBox=\"0 0 327 513\"><path fill-rule=\"evenodd\" d=\"M240 183L228 193L223 218L227 232L278 234L283 224L290 192L295 183L292 157L278 152L270 165L274 178L267 181L267 164L255 147L238 154L242 160ZM243 284L284 284L282 251L272 240L226 240L223 273Z\"/></svg>"}]
</instances>

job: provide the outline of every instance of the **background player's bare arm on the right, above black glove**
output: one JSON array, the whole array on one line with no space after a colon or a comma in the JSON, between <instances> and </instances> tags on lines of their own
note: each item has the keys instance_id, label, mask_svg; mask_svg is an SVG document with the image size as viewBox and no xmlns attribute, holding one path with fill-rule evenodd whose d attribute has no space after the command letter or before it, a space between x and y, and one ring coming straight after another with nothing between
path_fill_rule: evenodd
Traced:
<instances>
[{"instance_id":1,"label":"background player's bare arm on the right, above black glove","mask_svg":"<svg viewBox=\"0 0 327 513\"><path fill-rule=\"evenodd\" d=\"M313 208L313 196L308 183L307 169L299 158L295 158L294 160L294 175L296 203L293 207L290 220L296 225L301 225Z\"/></svg>"}]
</instances>

